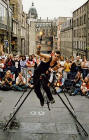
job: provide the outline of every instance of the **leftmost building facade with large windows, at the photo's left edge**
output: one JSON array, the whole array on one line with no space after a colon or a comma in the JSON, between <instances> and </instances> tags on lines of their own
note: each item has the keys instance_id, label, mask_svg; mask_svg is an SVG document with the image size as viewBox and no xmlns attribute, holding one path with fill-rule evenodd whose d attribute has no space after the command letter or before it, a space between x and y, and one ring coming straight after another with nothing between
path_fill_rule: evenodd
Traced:
<instances>
[{"instance_id":1,"label":"leftmost building facade with large windows, at the photo's left edge","mask_svg":"<svg viewBox=\"0 0 89 140\"><path fill-rule=\"evenodd\" d=\"M9 1L0 0L0 54L9 52L10 32L12 28L12 10Z\"/></svg>"}]
</instances>

